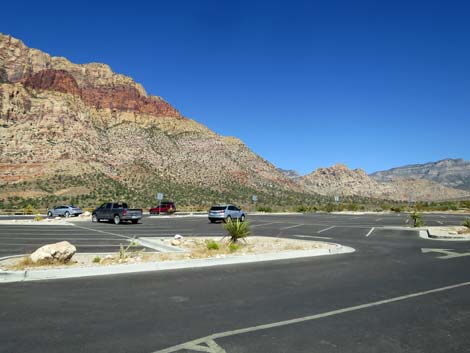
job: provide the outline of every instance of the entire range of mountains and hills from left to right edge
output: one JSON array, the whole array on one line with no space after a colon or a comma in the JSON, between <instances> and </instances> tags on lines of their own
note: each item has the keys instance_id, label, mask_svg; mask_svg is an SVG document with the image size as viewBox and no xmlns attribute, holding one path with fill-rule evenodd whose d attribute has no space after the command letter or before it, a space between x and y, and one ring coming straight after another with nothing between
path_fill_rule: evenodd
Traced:
<instances>
[{"instance_id":1,"label":"entire range of mountains and hills from left to right edge","mask_svg":"<svg viewBox=\"0 0 470 353\"><path fill-rule=\"evenodd\" d=\"M374 173L336 165L301 177L235 137L184 117L104 64L74 64L0 34L0 208L21 200L79 204L155 193L187 205L467 197L469 162ZM458 188L458 189L456 189Z\"/></svg>"}]
</instances>

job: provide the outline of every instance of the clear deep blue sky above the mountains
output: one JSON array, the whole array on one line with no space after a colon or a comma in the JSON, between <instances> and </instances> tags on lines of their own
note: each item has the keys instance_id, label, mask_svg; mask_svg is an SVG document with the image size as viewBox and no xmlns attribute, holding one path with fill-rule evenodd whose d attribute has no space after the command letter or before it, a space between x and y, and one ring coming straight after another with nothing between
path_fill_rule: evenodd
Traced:
<instances>
[{"instance_id":1,"label":"clear deep blue sky above the mountains","mask_svg":"<svg viewBox=\"0 0 470 353\"><path fill-rule=\"evenodd\" d=\"M470 159L468 1L8 1L0 32L104 62L302 174Z\"/></svg>"}]
</instances>

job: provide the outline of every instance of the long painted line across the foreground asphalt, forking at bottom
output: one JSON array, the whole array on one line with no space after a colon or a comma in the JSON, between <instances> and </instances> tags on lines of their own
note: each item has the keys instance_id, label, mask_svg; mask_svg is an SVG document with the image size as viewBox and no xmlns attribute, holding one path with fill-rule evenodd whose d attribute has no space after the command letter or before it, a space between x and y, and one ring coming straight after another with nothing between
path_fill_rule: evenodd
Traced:
<instances>
[{"instance_id":1,"label":"long painted line across the foreground asphalt, forking at bottom","mask_svg":"<svg viewBox=\"0 0 470 353\"><path fill-rule=\"evenodd\" d=\"M206 337L203 337L203 338L198 338L198 339L195 339L193 341L185 342L185 343L173 346L173 347L168 347L168 348L165 348L165 349L154 351L152 353L173 353L173 352L178 352L178 351L181 351L181 350L189 350L189 351L197 351L197 352L209 352L209 353L226 353L225 349L223 349L220 345L215 343L214 340L219 339L219 338L225 338L225 337L241 335L241 334L245 334L245 333L261 331L261 330L268 330L268 329L276 328L276 327L282 327L282 326L288 326L288 325L298 324L298 323L302 323L302 322L318 320L318 319L322 319L322 318L325 318L325 317L341 315L341 314L349 313L349 312L352 312L352 311L368 309L368 308L372 308L372 307L376 307L376 306L380 306L380 305L395 303L395 302L399 302L399 301L403 301L403 300L422 297L422 296L429 295L429 294L434 294L434 293L444 292L444 291L448 291L448 290L452 290L452 289L457 289L457 288L465 287L465 286L468 286L468 285L470 285L470 282L462 282L462 283L454 284L454 285L451 285L451 286L440 287L440 288L435 288L435 289L431 289L431 290L427 290L427 291L411 293L411 294L403 295L403 296L400 296L400 297L393 297L393 298L389 298L389 299L379 300L379 301L376 301L376 302L370 302L370 303L366 303L366 304L361 304L361 305L345 307L345 308L341 308L341 309L337 309L337 310L327 311L327 312L324 312L324 313L321 313L321 314L304 316L304 317L299 317L299 318L295 318L295 319L291 319L291 320L285 320L285 321L278 321L278 322L273 322L273 323L264 324L264 325L252 326L252 327L242 328L242 329L233 330L233 331L225 331L225 332L214 333L212 335L209 335L209 336L206 336Z\"/></svg>"}]
</instances>

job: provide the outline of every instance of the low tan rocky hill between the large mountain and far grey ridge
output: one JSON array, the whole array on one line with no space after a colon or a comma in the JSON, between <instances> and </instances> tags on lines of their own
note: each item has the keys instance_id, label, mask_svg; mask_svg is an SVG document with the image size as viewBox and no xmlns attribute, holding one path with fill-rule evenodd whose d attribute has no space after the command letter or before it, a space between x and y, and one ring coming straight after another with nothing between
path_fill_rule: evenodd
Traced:
<instances>
[{"instance_id":1,"label":"low tan rocky hill between the large mountain and far grey ridge","mask_svg":"<svg viewBox=\"0 0 470 353\"><path fill-rule=\"evenodd\" d=\"M351 170L343 164L319 168L299 179L309 192L321 195L356 195L397 201L438 201L470 196L470 193L452 189L430 180L399 179L379 182L362 169Z\"/></svg>"}]
</instances>

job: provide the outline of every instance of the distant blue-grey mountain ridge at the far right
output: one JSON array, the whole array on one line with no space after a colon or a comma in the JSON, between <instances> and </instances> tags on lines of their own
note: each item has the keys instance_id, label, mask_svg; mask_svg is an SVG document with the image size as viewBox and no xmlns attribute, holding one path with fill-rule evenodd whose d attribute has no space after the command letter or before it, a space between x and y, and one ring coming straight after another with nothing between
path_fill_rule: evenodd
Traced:
<instances>
[{"instance_id":1,"label":"distant blue-grey mountain ridge at the far right","mask_svg":"<svg viewBox=\"0 0 470 353\"><path fill-rule=\"evenodd\" d=\"M470 161L443 159L379 171L370 175L377 181L427 179L442 185L470 191Z\"/></svg>"}]
</instances>

